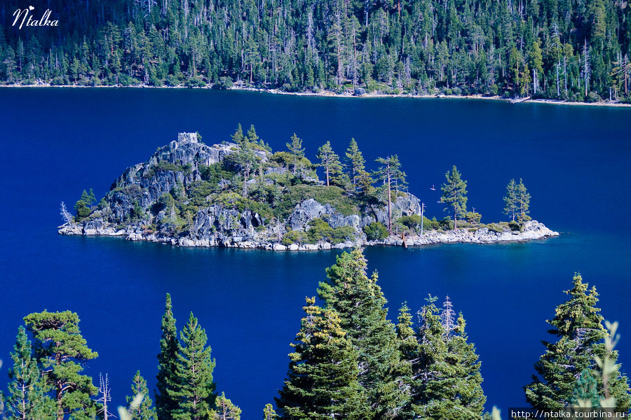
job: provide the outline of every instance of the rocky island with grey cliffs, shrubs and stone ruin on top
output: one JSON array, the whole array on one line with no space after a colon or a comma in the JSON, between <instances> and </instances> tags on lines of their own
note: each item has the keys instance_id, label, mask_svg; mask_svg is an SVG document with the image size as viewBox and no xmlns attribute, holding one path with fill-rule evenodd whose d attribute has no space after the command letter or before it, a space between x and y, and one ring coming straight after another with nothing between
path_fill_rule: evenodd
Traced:
<instances>
[{"instance_id":1,"label":"rocky island with grey cliffs, shrubs and stone ruin on top","mask_svg":"<svg viewBox=\"0 0 631 420\"><path fill-rule=\"evenodd\" d=\"M208 146L197 133L178 134L147 162L125 170L98 204L90 190L75 204L76 216L62 206L59 233L279 251L559 235L536 221L483 225L480 215L468 214L456 219L454 230L449 217L422 217L419 199L402 191L398 158L379 158L382 169L368 174L354 140L348 173L328 142L318 150L322 165L313 165L295 134L288 152L272 153L254 127L243 134L239 126L232 140ZM316 166L325 169L326 181ZM374 188L379 176L388 183Z\"/></svg>"}]
</instances>

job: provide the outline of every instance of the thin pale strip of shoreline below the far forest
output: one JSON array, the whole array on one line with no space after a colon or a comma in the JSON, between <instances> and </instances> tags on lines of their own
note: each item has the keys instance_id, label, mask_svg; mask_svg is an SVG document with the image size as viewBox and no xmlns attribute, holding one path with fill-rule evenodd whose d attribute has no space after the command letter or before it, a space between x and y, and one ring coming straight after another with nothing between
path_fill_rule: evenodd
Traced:
<instances>
[{"instance_id":1,"label":"thin pale strip of shoreline below the far forest","mask_svg":"<svg viewBox=\"0 0 631 420\"><path fill-rule=\"evenodd\" d=\"M72 88L72 89L199 89L199 90L212 90L213 85L205 87L186 87L186 86L149 86L149 85L130 85L130 86L109 86L109 85L97 85L97 86L85 86L85 85L50 85L50 83L36 83L34 85L0 85L1 87L8 88ZM502 98L498 95L485 96L483 94L473 95L445 95L445 94L384 94L384 93L366 93L361 95L355 94L337 94L326 90L324 92L284 92L278 89L263 89L258 87L230 87L224 90L235 90L237 92L259 92L266 94L284 94L290 96L302 96L302 97L328 97L328 98L353 98L353 99L370 99L370 98L409 98L409 99L469 99L469 100L490 100L510 102L513 98ZM609 106L613 108L631 108L631 104L622 104L620 102L568 102L560 101L556 99L527 99L521 101L520 104L550 104L550 105L571 105L571 106Z\"/></svg>"}]
</instances>

